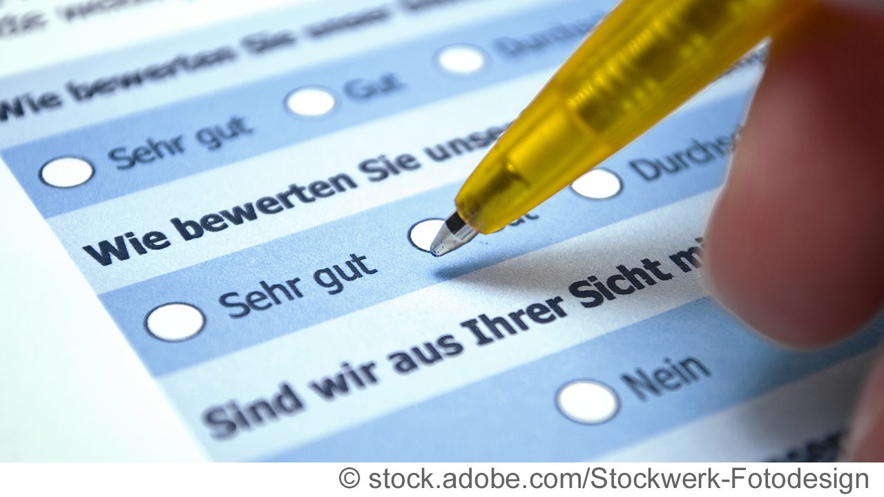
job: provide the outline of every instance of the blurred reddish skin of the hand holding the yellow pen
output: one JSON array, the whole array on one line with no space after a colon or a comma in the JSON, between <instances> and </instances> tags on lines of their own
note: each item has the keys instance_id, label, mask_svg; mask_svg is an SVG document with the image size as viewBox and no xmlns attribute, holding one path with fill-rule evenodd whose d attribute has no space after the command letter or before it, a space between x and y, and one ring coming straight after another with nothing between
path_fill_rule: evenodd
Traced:
<instances>
[{"instance_id":1,"label":"blurred reddish skin of the hand holding the yellow pen","mask_svg":"<svg viewBox=\"0 0 884 497\"><path fill-rule=\"evenodd\" d=\"M707 227L709 286L743 321L815 348L884 308L884 9L821 4L777 36ZM884 461L884 354L846 458Z\"/></svg>"}]
</instances>

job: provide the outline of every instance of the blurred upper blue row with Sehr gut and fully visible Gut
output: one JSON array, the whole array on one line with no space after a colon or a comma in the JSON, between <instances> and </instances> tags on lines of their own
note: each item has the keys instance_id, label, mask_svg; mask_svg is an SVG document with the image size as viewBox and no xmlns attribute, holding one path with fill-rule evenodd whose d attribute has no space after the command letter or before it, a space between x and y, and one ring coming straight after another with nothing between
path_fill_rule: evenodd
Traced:
<instances>
[{"instance_id":1,"label":"blurred upper blue row with Sehr gut and fully visible Gut","mask_svg":"<svg viewBox=\"0 0 884 497\"><path fill-rule=\"evenodd\" d=\"M51 218L520 75L552 72L600 16L573 1L522 11L481 27L434 34L83 127L2 154L38 210ZM536 33L545 33L547 42L532 48L517 42ZM451 72L464 67L464 61L454 57L446 75L436 55L453 44L484 52L487 68L459 77ZM286 106L301 109L293 90L305 87L325 88L335 101L324 103L315 94L301 117L293 115ZM330 105L331 111L326 109ZM324 115L310 118L311 113ZM79 186L51 187L52 180L41 178L41 168L57 157L86 159L94 171L80 175L88 180Z\"/></svg>"}]
</instances>

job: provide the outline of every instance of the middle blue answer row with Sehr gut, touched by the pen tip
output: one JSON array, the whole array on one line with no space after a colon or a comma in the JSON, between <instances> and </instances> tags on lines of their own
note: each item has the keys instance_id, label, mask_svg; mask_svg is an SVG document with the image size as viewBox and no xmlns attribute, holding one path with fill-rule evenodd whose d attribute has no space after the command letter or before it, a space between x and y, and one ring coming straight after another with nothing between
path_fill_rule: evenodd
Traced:
<instances>
[{"instance_id":1,"label":"middle blue answer row with Sehr gut, touched by the pen tip","mask_svg":"<svg viewBox=\"0 0 884 497\"><path fill-rule=\"evenodd\" d=\"M534 212L536 220L474 241L446 256L445 264L412 246L408 230L423 218L438 218L439 210L451 205L458 184L100 297L149 370L162 376L717 187L727 156L681 172L660 172L656 180L647 180L629 163L635 157L647 157L642 160L655 164L658 159L651 157L664 155L670 144L672 149L683 149L694 139L732 134L747 98L730 96L676 114L612 157L605 165L623 180L619 195L592 201L563 191ZM201 310L205 316L202 332L176 343L156 340L147 333L145 315L165 302L188 302Z\"/></svg>"}]
</instances>

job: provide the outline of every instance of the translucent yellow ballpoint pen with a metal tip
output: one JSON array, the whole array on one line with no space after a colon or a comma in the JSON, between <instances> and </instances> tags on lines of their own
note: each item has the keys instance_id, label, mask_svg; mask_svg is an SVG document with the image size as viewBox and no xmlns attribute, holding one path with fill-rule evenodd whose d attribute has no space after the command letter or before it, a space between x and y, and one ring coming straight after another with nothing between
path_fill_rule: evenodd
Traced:
<instances>
[{"instance_id":1,"label":"translucent yellow ballpoint pen with a metal tip","mask_svg":"<svg viewBox=\"0 0 884 497\"><path fill-rule=\"evenodd\" d=\"M431 253L522 217L804 16L813 0L623 0L500 136Z\"/></svg>"}]
</instances>

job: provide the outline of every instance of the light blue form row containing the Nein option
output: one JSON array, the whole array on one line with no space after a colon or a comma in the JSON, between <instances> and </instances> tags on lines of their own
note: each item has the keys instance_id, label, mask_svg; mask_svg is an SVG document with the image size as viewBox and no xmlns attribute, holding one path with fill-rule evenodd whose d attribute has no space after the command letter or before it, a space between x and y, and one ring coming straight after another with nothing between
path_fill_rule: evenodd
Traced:
<instances>
[{"instance_id":1,"label":"light blue form row containing the Nein option","mask_svg":"<svg viewBox=\"0 0 884 497\"><path fill-rule=\"evenodd\" d=\"M797 352L751 333L704 298L268 460L592 459L871 350L882 334L878 320L833 348ZM606 423L577 424L556 409L560 387L581 378L616 393L619 409Z\"/></svg>"}]
</instances>

